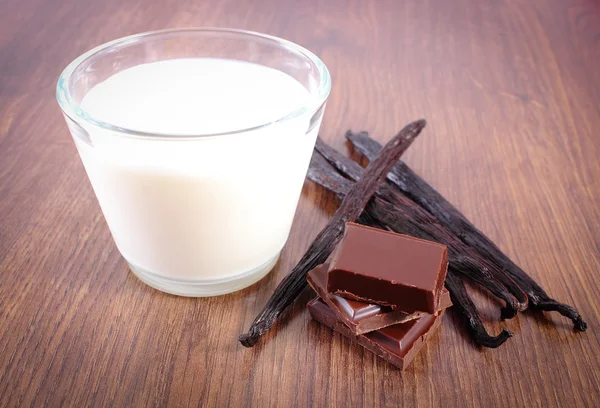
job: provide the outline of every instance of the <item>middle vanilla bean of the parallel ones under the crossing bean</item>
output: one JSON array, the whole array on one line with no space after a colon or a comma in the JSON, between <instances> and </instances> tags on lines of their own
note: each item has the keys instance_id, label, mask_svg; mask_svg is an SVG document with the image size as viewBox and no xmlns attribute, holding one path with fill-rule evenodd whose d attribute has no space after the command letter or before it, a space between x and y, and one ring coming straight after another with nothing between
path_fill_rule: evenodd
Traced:
<instances>
[{"instance_id":1,"label":"middle vanilla bean of the parallel ones under the crossing bean","mask_svg":"<svg viewBox=\"0 0 600 408\"><path fill-rule=\"evenodd\" d=\"M364 169L360 165L345 157L321 139L317 140L316 149L342 174L350 177L352 180L359 180L362 176ZM501 310L501 317L503 319L516 316L522 305L515 294L505 285L505 282L508 282L513 291L520 294L524 299L527 299L527 296L505 274L497 273L496 275L492 275L490 269L497 269L495 264L488 262L469 248L452 232L448 231L435 217L415 202L400 194L396 188L393 188L388 183L383 183L379 187L377 195L392 204L389 211L393 214L390 216L399 215L405 222L415 223L421 238L446 245L448 247L448 257L457 266L458 271L504 300L506 307ZM423 236L423 234L427 234L427 236ZM462 267L457 265L459 259L462 259ZM504 279L501 280L498 277Z\"/></svg>"}]
</instances>

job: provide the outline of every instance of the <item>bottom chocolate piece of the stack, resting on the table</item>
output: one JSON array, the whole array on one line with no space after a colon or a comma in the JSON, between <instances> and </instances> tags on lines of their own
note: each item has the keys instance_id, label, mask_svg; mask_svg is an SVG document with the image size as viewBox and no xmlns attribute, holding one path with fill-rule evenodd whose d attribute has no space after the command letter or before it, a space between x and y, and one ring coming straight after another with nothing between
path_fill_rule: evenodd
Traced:
<instances>
[{"instance_id":1,"label":"bottom chocolate piece of the stack, resting on the table","mask_svg":"<svg viewBox=\"0 0 600 408\"><path fill-rule=\"evenodd\" d=\"M426 315L418 320L396 324L367 334L354 335L321 299L311 300L307 307L313 319L360 344L401 370L410 364L425 341L440 326L444 315L444 311L441 311L437 316Z\"/></svg>"}]
</instances>

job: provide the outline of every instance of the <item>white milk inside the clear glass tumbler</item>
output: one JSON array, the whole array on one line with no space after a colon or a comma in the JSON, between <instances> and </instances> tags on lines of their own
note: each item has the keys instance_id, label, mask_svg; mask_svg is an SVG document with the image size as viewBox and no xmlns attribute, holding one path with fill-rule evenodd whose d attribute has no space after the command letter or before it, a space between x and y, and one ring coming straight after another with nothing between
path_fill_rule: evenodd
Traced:
<instances>
[{"instance_id":1,"label":"white milk inside the clear glass tumbler","mask_svg":"<svg viewBox=\"0 0 600 408\"><path fill-rule=\"evenodd\" d=\"M310 117L300 115L261 126L310 98L283 72L208 58L138 65L84 96L81 108L94 119L163 135L85 124L88 137L74 137L115 243L139 277L201 295L235 289L223 282L245 286L271 269L319 123L309 131ZM197 290L186 293L182 284Z\"/></svg>"}]
</instances>

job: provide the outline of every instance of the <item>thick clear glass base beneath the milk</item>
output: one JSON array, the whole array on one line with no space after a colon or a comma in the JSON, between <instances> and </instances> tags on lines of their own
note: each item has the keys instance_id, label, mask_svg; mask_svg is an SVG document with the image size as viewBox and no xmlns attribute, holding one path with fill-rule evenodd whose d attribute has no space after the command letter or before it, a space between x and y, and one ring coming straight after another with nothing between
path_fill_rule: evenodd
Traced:
<instances>
[{"instance_id":1,"label":"thick clear glass base beneath the milk","mask_svg":"<svg viewBox=\"0 0 600 408\"><path fill-rule=\"evenodd\" d=\"M279 259L280 254L281 252L278 252L273 258L264 264L240 275L210 280L170 279L152 273L129 261L127 261L127 263L129 264L131 271L135 276L138 277L138 279L145 284L152 286L154 289L160 290L161 292L178 296L209 297L236 292L258 282L267 273L269 273L271 269L273 269L277 263L277 260Z\"/></svg>"}]
</instances>

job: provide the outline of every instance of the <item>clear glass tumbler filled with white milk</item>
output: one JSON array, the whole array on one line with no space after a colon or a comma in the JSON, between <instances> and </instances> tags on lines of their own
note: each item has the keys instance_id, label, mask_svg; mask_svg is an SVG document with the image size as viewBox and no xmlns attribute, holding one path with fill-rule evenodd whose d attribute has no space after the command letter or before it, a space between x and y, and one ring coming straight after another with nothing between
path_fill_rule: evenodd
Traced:
<instances>
[{"instance_id":1,"label":"clear glass tumbler filled with white milk","mask_svg":"<svg viewBox=\"0 0 600 408\"><path fill-rule=\"evenodd\" d=\"M213 296L277 262L330 87L323 62L289 41L176 29L83 54L57 98L133 273Z\"/></svg>"}]
</instances>

